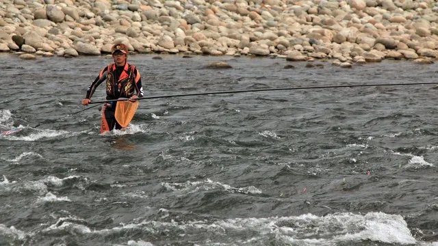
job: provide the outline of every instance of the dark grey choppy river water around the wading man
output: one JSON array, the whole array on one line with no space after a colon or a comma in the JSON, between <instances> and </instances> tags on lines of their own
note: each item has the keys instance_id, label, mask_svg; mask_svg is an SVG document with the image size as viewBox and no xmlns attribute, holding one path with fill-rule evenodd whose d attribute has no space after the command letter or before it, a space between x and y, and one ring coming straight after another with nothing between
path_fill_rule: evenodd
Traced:
<instances>
[{"instance_id":1,"label":"dark grey choppy river water around the wading man","mask_svg":"<svg viewBox=\"0 0 438 246\"><path fill-rule=\"evenodd\" d=\"M129 56L145 96L435 82L438 71L153 57ZM0 55L0 131L24 126L0 137L0 245L438 245L438 87L146 99L128 128L101 135L96 107L75 112L111 62Z\"/></svg>"}]
</instances>

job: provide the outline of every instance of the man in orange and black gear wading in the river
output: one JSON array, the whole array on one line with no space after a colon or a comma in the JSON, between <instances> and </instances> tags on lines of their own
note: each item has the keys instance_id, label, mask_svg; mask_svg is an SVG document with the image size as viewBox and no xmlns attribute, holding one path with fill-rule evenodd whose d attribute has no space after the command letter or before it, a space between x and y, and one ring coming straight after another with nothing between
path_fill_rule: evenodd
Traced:
<instances>
[{"instance_id":1,"label":"man in orange and black gear wading in the river","mask_svg":"<svg viewBox=\"0 0 438 246\"><path fill-rule=\"evenodd\" d=\"M135 102L138 98L143 97L142 79L136 66L128 64L128 47L125 44L114 44L111 49L114 64L103 68L99 76L88 87L87 95L82 100L82 105L88 105L91 97L103 81L106 81L107 100L118 98L129 98L129 101ZM105 103L102 113L101 133L112 131L114 127L121 129L114 116L117 102Z\"/></svg>"}]
</instances>

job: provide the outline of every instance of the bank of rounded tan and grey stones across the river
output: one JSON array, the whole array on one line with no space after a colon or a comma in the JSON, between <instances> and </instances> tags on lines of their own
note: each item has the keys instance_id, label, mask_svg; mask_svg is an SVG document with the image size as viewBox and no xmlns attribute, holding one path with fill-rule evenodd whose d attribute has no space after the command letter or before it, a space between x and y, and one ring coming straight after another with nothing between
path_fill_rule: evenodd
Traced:
<instances>
[{"instance_id":1,"label":"bank of rounded tan and grey stones across the river","mask_svg":"<svg viewBox=\"0 0 438 246\"><path fill-rule=\"evenodd\" d=\"M3 0L0 51L259 55L333 64L438 57L432 0Z\"/></svg>"}]
</instances>

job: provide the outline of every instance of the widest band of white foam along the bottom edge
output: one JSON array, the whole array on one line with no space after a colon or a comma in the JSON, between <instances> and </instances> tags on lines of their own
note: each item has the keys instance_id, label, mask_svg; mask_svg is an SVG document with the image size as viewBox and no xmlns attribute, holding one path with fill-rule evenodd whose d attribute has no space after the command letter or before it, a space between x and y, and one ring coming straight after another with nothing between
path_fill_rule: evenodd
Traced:
<instances>
[{"instance_id":1,"label":"widest band of white foam along the bottom edge","mask_svg":"<svg viewBox=\"0 0 438 246\"><path fill-rule=\"evenodd\" d=\"M77 223L75 223L77 221ZM406 221L400 215L385 213L335 213L324 217L306 214L290 217L235 218L214 221L151 221L129 223L114 228L91 230L83 226L83 219L74 217L60 218L57 223L44 231L75 230L81 234L118 234L129 230L144 230L148 234L160 234L164 231L179 231L181 235L195 237L199 233L208 233L220 245L253 245L268 243L273 237L281 243L300 243L300 245L338 245L363 240L412 245L413 238ZM259 236L246 238L245 235ZM232 236L231 236L232 235ZM231 239L232 238L232 239ZM232 242L230 241L233 240ZM211 245L211 244L209 244Z\"/></svg>"}]
</instances>

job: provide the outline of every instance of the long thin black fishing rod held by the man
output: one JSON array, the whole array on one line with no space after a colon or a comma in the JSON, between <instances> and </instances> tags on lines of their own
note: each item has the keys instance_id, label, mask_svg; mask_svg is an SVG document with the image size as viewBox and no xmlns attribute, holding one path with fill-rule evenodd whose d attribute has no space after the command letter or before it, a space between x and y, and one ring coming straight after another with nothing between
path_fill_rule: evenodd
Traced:
<instances>
[{"instance_id":1,"label":"long thin black fishing rod held by the man","mask_svg":"<svg viewBox=\"0 0 438 246\"><path fill-rule=\"evenodd\" d=\"M243 93L243 92L268 92L268 91L281 91L281 90L311 90L311 89L327 89L327 88L343 88L343 87L372 87L372 86L396 86L396 85L437 85L438 82L426 82L426 83L394 83L394 84L368 84L368 85L322 85L322 86L306 86L306 87L285 87L285 88L270 88L270 89L252 89L252 90L235 90L235 91L224 91L224 92L198 92L191 94L173 94L173 95L164 95L164 96L147 96L138 98L136 100L144 100L144 99L155 99L155 98L171 98L171 97L179 97L179 96L202 96L202 95L213 95L213 94L234 94L234 93ZM93 103L104 103L104 102L117 102L129 100L128 98L120 98L114 100L103 100Z\"/></svg>"}]
</instances>

